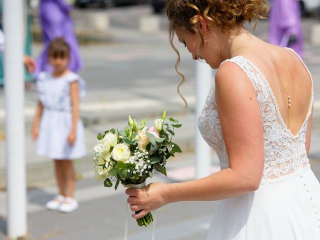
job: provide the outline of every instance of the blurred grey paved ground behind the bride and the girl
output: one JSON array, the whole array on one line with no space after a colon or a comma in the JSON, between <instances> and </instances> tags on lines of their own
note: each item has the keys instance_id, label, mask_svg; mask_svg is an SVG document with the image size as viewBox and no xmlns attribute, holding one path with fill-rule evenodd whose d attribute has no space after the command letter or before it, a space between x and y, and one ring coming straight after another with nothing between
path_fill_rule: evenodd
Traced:
<instances>
[{"instance_id":1,"label":"blurred grey paved ground behind the bride and the girl","mask_svg":"<svg viewBox=\"0 0 320 240\"><path fill-rule=\"evenodd\" d=\"M87 96L81 103L81 116L86 125L87 150L95 143L95 135L111 127L123 127L127 114L136 118L158 117L163 108L183 123L177 131L176 142L183 153L168 162L168 178L156 175L154 181L180 181L194 177L193 138L194 115L194 62L189 53L177 43L181 53L179 69L185 74L186 82L181 91L189 108L182 111L183 103L176 94L179 81L173 64L176 59L165 32L165 17L160 15L161 30L153 35L138 31L138 16L149 14L147 6L134 6L109 11L110 34L105 44L83 44L80 51L85 67L80 72L87 80ZM94 12L90 10L89 12ZM84 14L76 11L76 16ZM306 38L304 60L314 80L315 112L310 159L312 169L320 178L320 47L309 43L309 36L316 19L304 19ZM79 24L79 23L78 23ZM82 24L82 23L81 23ZM266 39L267 22L258 24L255 34ZM34 44L34 55L40 51ZM3 91L0 89L0 96ZM27 239L123 239L125 219L125 195L123 188L104 188L102 182L93 179L92 162L88 157L75 161L78 181L75 192L80 208L72 214L61 214L44 209L44 203L55 193L51 160L34 154L34 142L29 130L34 114L36 92L34 85L25 91L26 163L28 184L28 229ZM4 104L0 101L0 202L5 202L5 147L4 147ZM216 171L217 158L212 152L212 171ZM155 212L157 218L156 239L204 239L213 215L215 202L180 202L169 204ZM0 239L5 239L5 207L0 208ZM151 239L151 228L139 228L129 220L128 239Z\"/></svg>"}]
</instances>

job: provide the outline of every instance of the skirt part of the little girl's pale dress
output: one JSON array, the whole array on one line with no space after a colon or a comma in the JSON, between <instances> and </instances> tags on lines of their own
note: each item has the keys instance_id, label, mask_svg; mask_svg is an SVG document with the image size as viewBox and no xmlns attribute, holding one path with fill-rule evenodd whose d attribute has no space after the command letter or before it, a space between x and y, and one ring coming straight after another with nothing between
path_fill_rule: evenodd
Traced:
<instances>
[{"instance_id":1,"label":"skirt part of the little girl's pale dress","mask_svg":"<svg viewBox=\"0 0 320 240\"><path fill-rule=\"evenodd\" d=\"M85 156L85 138L82 121L78 120L76 138L73 145L69 145L67 141L71 125L71 112L45 109L39 125L36 153L47 155L52 159L63 160Z\"/></svg>"}]
</instances>

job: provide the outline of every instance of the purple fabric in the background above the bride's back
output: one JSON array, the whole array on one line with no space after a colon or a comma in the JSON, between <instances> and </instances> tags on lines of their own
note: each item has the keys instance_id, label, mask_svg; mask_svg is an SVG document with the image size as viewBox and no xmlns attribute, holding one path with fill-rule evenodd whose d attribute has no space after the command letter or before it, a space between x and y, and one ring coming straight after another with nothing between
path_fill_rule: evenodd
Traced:
<instances>
[{"instance_id":1,"label":"purple fabric in the background above the bride's back","mask_svg":"<svg viewBox=\"0 0 320 240\"><path fill-rule=\"evenodd\" d=\"M290 43L289 39L296 39ZM269 42L303 54L300 5L297 0L272 0L269 13Z\"/></svg>"}]
</instances>

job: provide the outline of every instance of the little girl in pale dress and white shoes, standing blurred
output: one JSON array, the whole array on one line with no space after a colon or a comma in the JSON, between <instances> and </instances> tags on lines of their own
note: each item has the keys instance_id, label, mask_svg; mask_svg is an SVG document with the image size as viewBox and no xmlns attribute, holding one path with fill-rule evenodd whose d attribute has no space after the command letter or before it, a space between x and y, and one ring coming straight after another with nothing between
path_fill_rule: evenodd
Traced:
<instances>
[{"instance_id":1,"label":"little girl in pale dress and white shoes, standing blurred","mask_svg":"<svg viewBox=\"0 0 320 240\"><path fill-rule=\"evenodd\" d=\"M84 80L67 66L69 45L62 37L50 43L48 60L53 72L37 79L39 101L32 128L36 152L54 159L59 194L46 203L48 209L71 212L78 207L73 198L75 172L72 159L86 154L84 129L79 119L79 97L85 94Z\"/></svg>"}]
</instances>

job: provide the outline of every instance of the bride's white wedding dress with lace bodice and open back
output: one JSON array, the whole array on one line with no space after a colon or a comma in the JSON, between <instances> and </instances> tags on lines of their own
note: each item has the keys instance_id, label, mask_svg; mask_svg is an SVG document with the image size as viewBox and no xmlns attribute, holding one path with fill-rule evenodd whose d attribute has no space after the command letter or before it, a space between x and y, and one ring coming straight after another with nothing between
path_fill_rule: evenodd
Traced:
<instances>
[{"instance_id":1,"label":"bride's white wedding dress with lace bodice and open back","mask_svg":"<svg viewBox=\"0 0 320 240\"><path fill-rule=\"evenodd\" d=\"M262 72L243 56L227 61L237 64L254 87L263 120L264 170L256 191L219 201L207 239L320 239L320 184L310 169L305 150L313 88L305 120L293 135L280 115L272 89ZM207 96L198 126L203 138L216 151L221 168L227 168L229 163L214 86Z\"/></svg>"}]
</instances>

